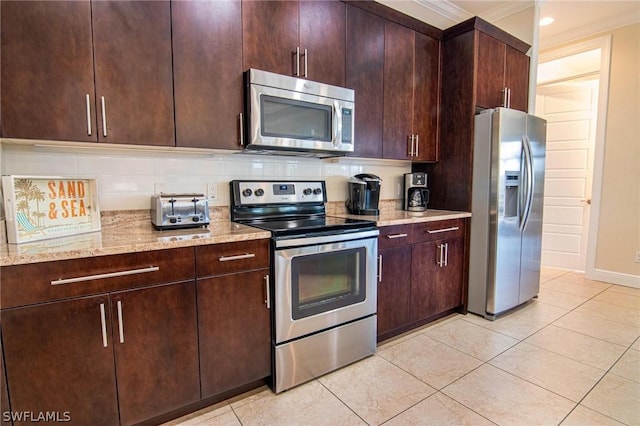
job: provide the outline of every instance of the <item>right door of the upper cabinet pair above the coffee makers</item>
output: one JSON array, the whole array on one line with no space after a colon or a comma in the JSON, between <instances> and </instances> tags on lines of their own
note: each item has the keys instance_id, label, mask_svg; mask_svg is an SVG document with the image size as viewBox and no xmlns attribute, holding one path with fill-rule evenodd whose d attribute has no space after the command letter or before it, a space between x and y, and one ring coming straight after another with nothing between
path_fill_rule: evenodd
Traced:
<instances>
[{"instance_id":1,"label":"right door of the upper cabinet pair above the coffee makers","mask_svg":"<svg viewBox=\"0 0 640 426\"><path fill-rule=\"evenodd\" d=\"M440 41L415 33L413 68L413 133L417 135L414 160L438 160L440 103Z\"/></svg>"}]
</instances>

